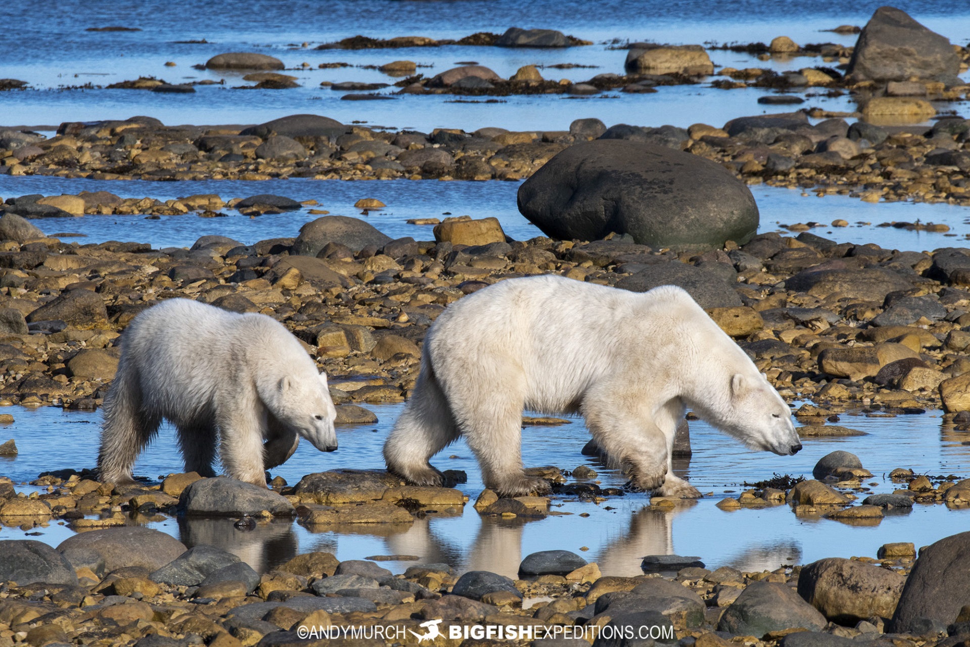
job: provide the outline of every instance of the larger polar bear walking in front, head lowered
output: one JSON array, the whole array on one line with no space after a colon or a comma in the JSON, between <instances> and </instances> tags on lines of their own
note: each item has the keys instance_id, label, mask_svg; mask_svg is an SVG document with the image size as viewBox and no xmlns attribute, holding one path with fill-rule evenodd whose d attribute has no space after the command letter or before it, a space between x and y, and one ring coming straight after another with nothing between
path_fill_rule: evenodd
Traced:
<instances>
[{"instance_id":1,"label":"larger polar bear walking in front, head lowered","mask_svg":"<svg viewBox=\"0 0 970 647\"><path fill-rule=\"evenodd\" d=\"M579 411L636 486L699 497L670 465L687 407L753 449L801 449L785 401L684 290L511 278L436 319L384 458L408 481L435 485L441 475L429 459L464 436L486 487L506 496L543 492L548 483L522 469L523 408Z\"/></svg>"}]
</instances>

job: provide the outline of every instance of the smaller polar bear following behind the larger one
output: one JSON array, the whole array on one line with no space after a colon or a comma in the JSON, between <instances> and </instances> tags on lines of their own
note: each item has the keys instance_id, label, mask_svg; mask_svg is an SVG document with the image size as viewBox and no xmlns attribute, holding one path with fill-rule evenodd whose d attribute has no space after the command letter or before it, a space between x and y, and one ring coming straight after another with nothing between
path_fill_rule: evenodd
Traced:
<instances>
[{"instance_id":1,"label":"smaller polar bear following behind the larger one","mask_svg":"<svg viewBox=\"0 0 970 647\"><path fill-rule=\"evenodd\" d=\"M288 459L300 437L320 451L337 449L336 416L326 374L275 319L172 299L124 331L98 469L105 481L130 482L166 418L186 471L215 475L218 437L226 473L266 487L265 470Z\"/></svg>"}]
</instances>

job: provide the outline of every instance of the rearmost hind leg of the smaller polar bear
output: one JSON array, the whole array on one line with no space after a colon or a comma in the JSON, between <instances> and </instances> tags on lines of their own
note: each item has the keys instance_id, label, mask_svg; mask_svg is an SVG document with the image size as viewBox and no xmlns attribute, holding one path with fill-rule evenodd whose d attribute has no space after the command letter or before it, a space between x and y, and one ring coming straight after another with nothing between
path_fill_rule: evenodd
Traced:
<instances>
[{"instance_id":1,"label":"rearmost hind leg of the smaller polar bear","mask_svg":"<svg viewBox=\"0 0 970 647\"><path fill-rule=\"evenodd\" d=\"M143 410L137 375L126 368L122 364L118 370L104 404L98 474L108 483L134 482L131 468L161 424L161 418Z\"/></svg>"}]
</instances>

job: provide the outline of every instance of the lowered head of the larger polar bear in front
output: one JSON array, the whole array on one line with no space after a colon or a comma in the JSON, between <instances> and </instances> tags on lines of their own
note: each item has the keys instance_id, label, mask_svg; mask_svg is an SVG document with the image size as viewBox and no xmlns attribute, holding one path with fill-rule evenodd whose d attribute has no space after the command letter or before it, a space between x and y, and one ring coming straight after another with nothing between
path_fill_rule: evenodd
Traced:
<instances>
[{"instance_id":1,"label":"lowered head of the larger polar bear in front","mask_svg":"<svg viewBox=\"0 0 970 647\"><path fill-rule=\"evenodd\" d=\"M763 374L734 373L730 413L723 429L752 449L789 456L801 449L792 411Z\"/></svg>"}]
</instances>

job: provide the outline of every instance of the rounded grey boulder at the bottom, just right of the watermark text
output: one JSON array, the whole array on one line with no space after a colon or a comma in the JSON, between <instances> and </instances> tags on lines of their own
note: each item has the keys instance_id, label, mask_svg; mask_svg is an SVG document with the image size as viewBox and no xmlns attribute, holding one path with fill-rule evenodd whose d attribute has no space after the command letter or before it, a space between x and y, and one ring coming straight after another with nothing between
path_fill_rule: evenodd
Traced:
<instances>
[{"instance_id":1,"label":"rounded grey boulder at the bottom, just right of the watermark text","mask_svg":"<svg viewBox=\"0 0 970 647\"><path fill-rule=\"evenodd\" d=\"M799 598L791 587L778 582L755 582L727 607L718 631L760 638L769 631L798 627L822 631L826 622L824 615Z\"/></svg>"}]
</instances>

